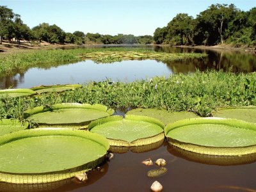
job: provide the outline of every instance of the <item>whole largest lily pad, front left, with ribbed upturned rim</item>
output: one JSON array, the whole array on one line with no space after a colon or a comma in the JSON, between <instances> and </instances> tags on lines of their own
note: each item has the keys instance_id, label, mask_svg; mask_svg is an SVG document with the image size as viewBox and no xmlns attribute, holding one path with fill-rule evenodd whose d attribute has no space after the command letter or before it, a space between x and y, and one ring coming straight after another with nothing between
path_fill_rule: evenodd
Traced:
<instances>
[{"instance_id":1,"label":"whole largest lily pad, front left, with ribbed upturned rim","mask_svg":"<svg viewBox=\"0 0 256 192\"><path fill-rule=\"evenodd\" d=\"M0 137L0 182L44 183L74 177L105 159L99 134L70 129L28 129Z\"/></svg>"}]
</instances>

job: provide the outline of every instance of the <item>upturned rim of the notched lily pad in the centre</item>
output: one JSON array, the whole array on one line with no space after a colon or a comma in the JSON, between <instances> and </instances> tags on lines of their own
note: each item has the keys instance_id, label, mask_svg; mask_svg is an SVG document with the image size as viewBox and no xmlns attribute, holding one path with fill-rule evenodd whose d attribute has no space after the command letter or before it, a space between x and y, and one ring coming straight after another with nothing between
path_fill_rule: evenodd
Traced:
<instances>
[{"instance_id":1,"label":"upturned rim of the notched lily pad in the centre","mask_svg":"<svg viewBox=\"0 0 256 192\"><path fill-rule=\"evenodd\" d=\"M136 147L141 145L148 145L152 143L157 143L164 139L164 124L163 122L160 122L156 118L148 117L148 116L140 116L140 115L125 115L125 118L123 116L107 116L105 118L100 118L99 120L94 120L88 125L88 130L91 131L93 127L96 127L97 125L105 124L108 122L116 122L120 120L132 120L132 121L138 121L138 122L147 122L150 124L156 124L157 126L161 127L163 129L163 132L159 132L159 134L156 134L154 136L150 137L144 137L144 138L138 138L134 141L128 142L125 140L116 140L113 138L107 138L109 140L109 144L111 146L117 146L117 147Z\"/></svg>"}]
</instances>

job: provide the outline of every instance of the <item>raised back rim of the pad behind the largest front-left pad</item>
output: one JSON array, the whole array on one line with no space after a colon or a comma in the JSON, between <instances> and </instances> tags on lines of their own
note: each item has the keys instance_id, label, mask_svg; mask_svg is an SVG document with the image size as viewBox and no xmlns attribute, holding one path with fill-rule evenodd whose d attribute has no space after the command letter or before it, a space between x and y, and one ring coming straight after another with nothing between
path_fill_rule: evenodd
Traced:
<instances>
[{"instance_id":1,"label":"raised back rim of the pad behind the largest front-left pad","mask_svg":"<svg viewBox=\"0 0 256 192\"><path fill-rule=\"evenodd\" d=\"M24 118L28 118L31 115L35 115L37 113L44 113L46 111L53 111L58 109L70 109L70 108L79 108L79 109L95 109L99 111L104 111L108 113L109 115L113 115L114 110L111 108L108 108L106 106L103 106L102 104L79 104L79 103L61 103L61 104L54 104L49 107L45 106L38 106L33 109L28 109L24 111L23 116Z\"/></svg>"}]
</instances>

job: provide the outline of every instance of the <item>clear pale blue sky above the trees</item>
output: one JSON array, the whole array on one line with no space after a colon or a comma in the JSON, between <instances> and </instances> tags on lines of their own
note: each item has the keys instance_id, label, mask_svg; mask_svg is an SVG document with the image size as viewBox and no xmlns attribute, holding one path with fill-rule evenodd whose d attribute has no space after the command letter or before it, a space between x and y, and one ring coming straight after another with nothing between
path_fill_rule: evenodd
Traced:
<instances>
[{"instance_id":1,"label":"clear pale blue sky above the trees","mask_svg":"<svg viewBox=\"0 0 256 192\"><path fill-rule=\"evenodd\" d=\"M196 17L216 3L234 3L244 11L256 6L255 0L0 0L1 6L21 15L30 28L48 22L65 32L109 35L153 35L177 13Z\"/></svg>"}]
</instances>

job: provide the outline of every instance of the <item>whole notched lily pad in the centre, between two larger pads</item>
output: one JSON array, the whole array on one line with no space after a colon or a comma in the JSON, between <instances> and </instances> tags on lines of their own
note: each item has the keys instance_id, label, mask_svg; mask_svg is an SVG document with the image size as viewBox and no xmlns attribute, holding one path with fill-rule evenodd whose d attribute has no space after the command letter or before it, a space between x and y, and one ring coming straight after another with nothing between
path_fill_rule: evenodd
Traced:
<instances>
[{"instance_id":1,"label":"whole notched lily pad in the centre, between two larger pads","mask_svg":"<svg viewBox=\"0 0 256 192\"><path fill-rule=\"evenodd\" d=\"M109 116L93 121L88 129L108 138L111 146L147 145L164 138L164 124L148 116Z\"/></svg>"}]
</instances>

